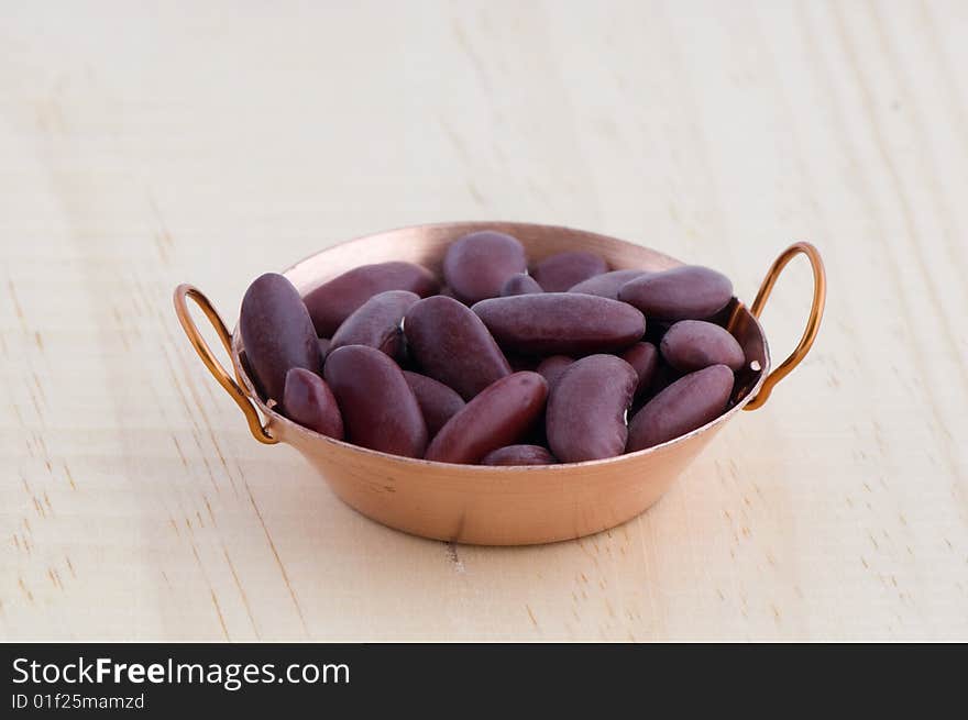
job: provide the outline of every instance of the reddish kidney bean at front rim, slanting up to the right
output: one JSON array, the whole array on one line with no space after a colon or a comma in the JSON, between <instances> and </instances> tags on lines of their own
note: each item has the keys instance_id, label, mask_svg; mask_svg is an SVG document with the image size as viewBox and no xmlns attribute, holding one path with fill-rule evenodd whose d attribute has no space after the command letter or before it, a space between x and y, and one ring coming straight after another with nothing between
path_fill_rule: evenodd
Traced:
<instances>
[{"instance_id":1,"label":"reddish kidney bean at front rim, slanting up to the right","mask_svg":"<svg viewBox=\"0 0 968 720\"><path fill-rule=\"evenodd\" d=\"M547 395L548 384L537 373L515 373L497 380L440 429L425 457L439 463L479 463L524 436L541 414Z\"/></svg>"}]
</instances>

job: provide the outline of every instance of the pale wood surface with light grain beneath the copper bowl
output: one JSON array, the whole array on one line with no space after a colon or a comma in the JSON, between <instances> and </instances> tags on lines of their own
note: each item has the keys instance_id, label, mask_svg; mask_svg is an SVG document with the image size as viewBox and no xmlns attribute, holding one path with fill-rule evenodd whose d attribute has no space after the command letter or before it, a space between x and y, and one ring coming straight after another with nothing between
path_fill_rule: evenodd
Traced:
<instances>
[{"instance_id":1,"label":"pale wood surface with light grain beneath the copper bowl","mask_svg":"<svg viewBox=\"0 0 968 720\"><path fill-rule=\"evenodd\" d=\"M0 636L968 640L968 4L3 2ZM436 220L827 261L818 343L645 517L355 514L177 326ZM809 302L798 262L765 322Z\"/></svg>"}]
</instances>

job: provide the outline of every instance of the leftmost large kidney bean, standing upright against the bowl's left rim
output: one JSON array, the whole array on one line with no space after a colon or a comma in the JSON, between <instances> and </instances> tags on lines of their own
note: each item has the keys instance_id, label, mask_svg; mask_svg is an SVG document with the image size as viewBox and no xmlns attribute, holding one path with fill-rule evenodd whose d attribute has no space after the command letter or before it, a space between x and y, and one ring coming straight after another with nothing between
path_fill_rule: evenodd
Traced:
<instances>
[{"instance_id":1,"label":"leftmost large kidney bean, standing upright against the bowl's left rim","mask_svg":"<svg viewBox=\"0 0 968 720\"><path fill-rule=\"evenodd\" d=\"M319 372L322 359L312 321L299 292L282 275L266 273L249 286L239 326L249 365L276 402L283 399L292 368Z\"/></svg>"}]
</instances>

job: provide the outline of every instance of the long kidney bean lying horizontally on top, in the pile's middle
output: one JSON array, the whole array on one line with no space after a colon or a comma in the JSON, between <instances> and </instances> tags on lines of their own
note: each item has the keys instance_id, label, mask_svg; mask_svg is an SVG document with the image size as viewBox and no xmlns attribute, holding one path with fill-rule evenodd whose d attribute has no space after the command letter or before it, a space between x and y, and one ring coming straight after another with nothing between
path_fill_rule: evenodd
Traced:
<instances>
[{"instance_id":1,"label":"long kidney bean lying horizontally on top, in the pile's middle","mask_svg":"<svg viewBox=\"0 0 968 720\"><path fill-rule=\"evenodd\" d=\"M537 355L586 355L628 347L646 332L642 313L579 292L482 300L471 308L502 347Z\"/></svg>"}]
</instances>

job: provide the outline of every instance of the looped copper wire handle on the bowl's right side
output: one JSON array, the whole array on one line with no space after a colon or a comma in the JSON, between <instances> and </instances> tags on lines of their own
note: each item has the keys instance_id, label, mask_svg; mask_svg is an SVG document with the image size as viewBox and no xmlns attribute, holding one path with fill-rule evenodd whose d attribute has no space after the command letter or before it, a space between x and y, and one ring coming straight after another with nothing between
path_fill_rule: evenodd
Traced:
<instances>
[{"instance_id":1,"label":"looped copper wire handle on the bowl's right side","mask_svg":"<svg viewBox=\"0 0 968 720\"><path fill-rule=\"evenodd\" d=\"M824 317L824 303L827 299L827 276L824 272L824 261L821 259L821 254L817 252L817 248L810 243L793 243L780 254L780 257L778 257L770 266L770 269L767 270L767 277L763 278L763 284L760 286L760 290L757 292L757 297L752 301L749 312L754 318L759 320L760 313L763 311L763 306L767 304L767 299L769 299L770 292L773 291L773 286L777 284L783 268L787 267L787 264L790 261L801 254L806 255L806 258L810 261L810 265L813 268L813 302L810 307L810 318L806 321L806 328L803 331L803 336L800 339L800 343L793 348L793 352L790 353L790 357L784 359L777 369L767 376L760 391L755 398L746 403L744 410L756 410L757 408L762 407L762 405L769 399L777 383L790 375L790 373L793 372L793 368L800 365L801 361L806 357L806 354L813 346L814 339L816 339L817 331L821 328L821 319Z\"/></svg>"}]
</instances>

